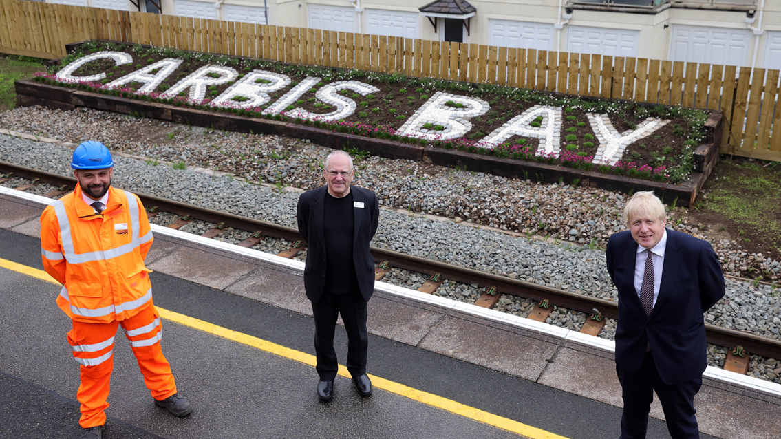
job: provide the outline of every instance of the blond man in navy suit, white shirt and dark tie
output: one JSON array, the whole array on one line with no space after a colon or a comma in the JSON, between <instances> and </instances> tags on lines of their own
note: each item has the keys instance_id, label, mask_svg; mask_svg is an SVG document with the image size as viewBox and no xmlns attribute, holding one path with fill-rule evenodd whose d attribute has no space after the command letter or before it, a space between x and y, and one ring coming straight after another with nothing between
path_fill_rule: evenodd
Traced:
<instances>
[{"instance_id":1,"label":"blond man in navy suit, white shirt and dark tie","mask_svg":"<svg viewBox=\"0 0 781 439\"><path fill-rule=\"evenodd\" d=\"M642 439L654 391L673 439L700 437L694 395L708 366L703 313L724 296L708 244L665 229L665 206L637 192L623 215L629 231L608 241L608 272L619 291L615 369L624 402L620 439Z\"/></svg>"}]
</instances>

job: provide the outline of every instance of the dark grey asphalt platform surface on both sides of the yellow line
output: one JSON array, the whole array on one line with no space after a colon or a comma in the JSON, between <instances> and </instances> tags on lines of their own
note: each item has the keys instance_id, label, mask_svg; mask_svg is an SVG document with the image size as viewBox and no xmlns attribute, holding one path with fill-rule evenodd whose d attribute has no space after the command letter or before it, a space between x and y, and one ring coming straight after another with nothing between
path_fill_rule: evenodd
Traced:
<instances>
[{"instance_id":1,"label":"dark grey asphalt platform surface on both sides of the yellow line","mask_svg":"<svg viewBox=\"0 0 781 439\"><path fill-rule=\"evenodd\" d=\"M40 241L0 229L0 258L42 269ZM152 273L155 305L314 355L311 317ZM59 287L0 269L0 437L78 437L78 365L55 305ZM371 306L371 302L369 302ZM311 366L164 322L163 352L193 414L152 404L130 346L117 337L105 437L515 437L387 391L369 398L337 377L316 398ZM347 337L337 330L344 362ZM368 372L572 439L619 436L620 409L458 359L369 335ZM649 419L648 438L667 438ZM708 437L703 435L702 437Z\"/></svg>"}]
</instances>

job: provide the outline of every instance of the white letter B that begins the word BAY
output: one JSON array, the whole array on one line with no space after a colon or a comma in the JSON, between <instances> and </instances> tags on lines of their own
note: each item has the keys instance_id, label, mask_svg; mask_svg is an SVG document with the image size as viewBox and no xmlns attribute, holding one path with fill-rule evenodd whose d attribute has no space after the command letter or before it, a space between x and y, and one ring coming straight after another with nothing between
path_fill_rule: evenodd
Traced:
<instances>
[{"instance_id":1,"label":"white letter B that begins the word BAY","mask_svg":"<svg viewBox=\"0 0 781 439\"><path fill-rule=\"evenodd\" d=\"M445 105L452 101L463 104L463 108L455 108ZM421 106L409 120L399 128L398 133L404 136L421 137L428 140L445 140L455 137L463 137L472 129L469 119L488 112L490 105L483 99L469 98L467 96L450 95L437 91ZM432 123L441 125L444 130L426 130L423 125Z\"/></svg>"}]
</instances>

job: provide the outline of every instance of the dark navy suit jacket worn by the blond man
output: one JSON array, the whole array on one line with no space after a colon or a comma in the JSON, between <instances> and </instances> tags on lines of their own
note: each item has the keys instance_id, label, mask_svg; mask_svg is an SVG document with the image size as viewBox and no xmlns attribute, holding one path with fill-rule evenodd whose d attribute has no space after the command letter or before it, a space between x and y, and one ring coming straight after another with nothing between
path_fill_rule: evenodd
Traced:
<instances>
[{"instance_id":1,"label":"dark navy suit jacket worn by the blond man","mask_svg":"<svg viewBox=\"0 0 781 439\"><path fill-rule=\"evenodd\" d=\"M619 290L615 362L637 373L650 342L666 384L701 376L708 366L703 312L724 297L719 259L708 241L667 229L662 284L656 305L646 316L634 287L637 246L629 231L608 240L608 273Z\"/></svg>"}]
</instances>

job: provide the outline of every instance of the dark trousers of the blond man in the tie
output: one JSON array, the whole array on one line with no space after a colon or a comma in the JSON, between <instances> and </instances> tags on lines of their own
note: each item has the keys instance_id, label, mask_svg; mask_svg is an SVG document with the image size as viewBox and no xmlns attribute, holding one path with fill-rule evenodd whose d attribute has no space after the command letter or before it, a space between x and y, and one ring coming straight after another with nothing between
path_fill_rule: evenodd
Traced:
<instances>
[{"instance_id":1,"label":"dark trousers of the blond man in the tie","mask_svg":"<svg viewBox=\"0 0 781 439\"><path fill-rule=\"evenodd\" d=\"M637 373L628 373L615 366L622 387L624 410L621 416L619 439L644 439L648 427L648 412L654 400L654 391L662 403L667 419L667 430L672 439L698 439L700 430L694 413L694 395L702 387L702 377L681 384L665 384L654 363L654 355L645 353Z\"/></svg>"}]
</instances>

